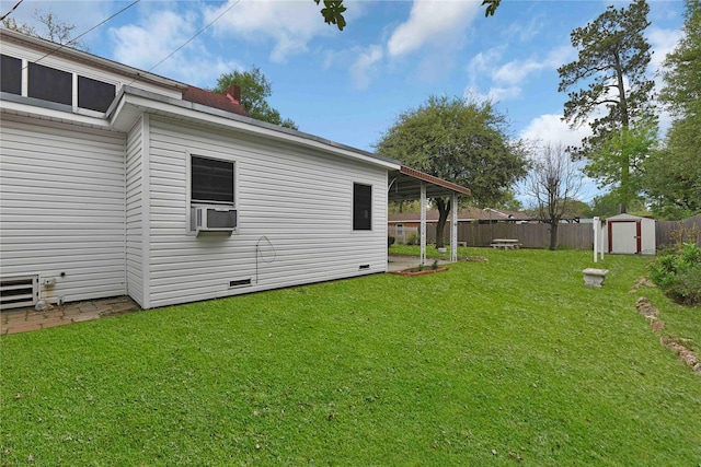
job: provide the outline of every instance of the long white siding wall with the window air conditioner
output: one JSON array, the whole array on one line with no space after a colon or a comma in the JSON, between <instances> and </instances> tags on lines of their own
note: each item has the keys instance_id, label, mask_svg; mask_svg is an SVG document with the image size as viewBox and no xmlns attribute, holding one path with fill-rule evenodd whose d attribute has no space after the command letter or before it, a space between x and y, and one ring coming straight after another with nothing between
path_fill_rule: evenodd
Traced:
<instances>
[{"instance_id":1,"label":"long white siding wall with the window air conditioner","mask_svg":"<svg viewBox=\"0 0 701 467\"><path fill-rule=\"evenodd\" d=\"M149 138L150 306L386 271L387 170L160 117ZM232 235L188 234L192 155L234 161ZM371 231L353 231L354 183L372 186Z\"/></svg>"}]
</instances>

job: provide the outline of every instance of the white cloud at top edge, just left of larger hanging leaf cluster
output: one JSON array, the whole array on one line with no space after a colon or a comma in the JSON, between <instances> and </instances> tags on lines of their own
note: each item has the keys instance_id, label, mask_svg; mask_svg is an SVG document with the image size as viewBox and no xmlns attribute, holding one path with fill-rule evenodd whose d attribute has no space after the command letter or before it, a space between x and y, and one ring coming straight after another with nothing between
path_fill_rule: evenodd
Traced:
<instances>
[{"instance_id":1,"label":"white cloud at top edge, just left of larger hanging leaf cluster","mask_svg":"<svg viewBox=\"0 0 701 467\"><path fill-rule=\"evenodd\" d=\"M229 0L219 8L206 9L205 22L209 23L229 8L214 24L216 33L220 37L233 34L250 42L273 40L271 60L276 62L306 52L307 44L314 36L333 32L332 26L322 21L320 7L311 0Z\"/></svg>"}]
</instances>

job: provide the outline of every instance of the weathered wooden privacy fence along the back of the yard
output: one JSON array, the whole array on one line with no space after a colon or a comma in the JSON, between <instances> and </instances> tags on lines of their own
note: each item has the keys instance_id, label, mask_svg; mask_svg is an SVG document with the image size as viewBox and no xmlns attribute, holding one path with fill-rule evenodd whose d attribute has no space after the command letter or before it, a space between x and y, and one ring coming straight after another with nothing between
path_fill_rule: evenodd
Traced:
<instances>
[{"instance_id":1,"label":"weathered wooden privacy fence along the back of the yard","mask_svg":"<svg viewBox=\"0 0 701 467\"><path fill-rule=\"evenodd\" d=\"M679 231L683 225L687 233L694 229L697 234L696 243L701 246L701 214L683 221L657 221L655 227L656 246L659 249L666 245L671 245L674 232ZM407 243L412 236L418 242L418 227L403 226L397 230L395 225L389 226L389 235L394 236L400 243ZM450 222L446 224L444 242L450 241ZM512 222L499 222L492 224L480 224L476 222L460 222L458 224L458 243L464 246L490 246L493 238L518 238L524 248L547 248L550 246L550 225L527 223L516 224ZM693 238L685 238L693 242ZM429 244L436 243L436 224L426 225L426 241ZM567 223L560 224L558 229L558 245L561 248L591 249L594 248L594 226L590 223Z\"/></svg>"}]
</instances>

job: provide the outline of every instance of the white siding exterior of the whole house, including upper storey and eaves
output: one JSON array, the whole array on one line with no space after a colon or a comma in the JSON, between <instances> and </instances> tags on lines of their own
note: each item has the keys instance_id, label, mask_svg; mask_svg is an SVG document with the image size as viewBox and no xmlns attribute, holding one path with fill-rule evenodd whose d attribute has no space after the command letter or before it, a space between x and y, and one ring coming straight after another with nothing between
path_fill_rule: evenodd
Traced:
<instances>
[{"instance_id":1,"label":"white siding exterior of the whole house, including upper storey and eaves","mask_svg":"<svg viewBox=\"0 0 701 467\"><path fill-rule=\"evenodd\" d=\"M3 279L54 278L41 289L50 302L129 294L149 308L387 270L398 164L179 102L183 83L0 34L2 54L72 73L72 105L27 98L28 73L21 94L2 93ZM77 106L79 77L115 84L118 101L105 113ZM232 235L189 232L193 155L235 162ZM372 187L371 230L353 230L355 183Z\"/></svg>"}]
</instances>

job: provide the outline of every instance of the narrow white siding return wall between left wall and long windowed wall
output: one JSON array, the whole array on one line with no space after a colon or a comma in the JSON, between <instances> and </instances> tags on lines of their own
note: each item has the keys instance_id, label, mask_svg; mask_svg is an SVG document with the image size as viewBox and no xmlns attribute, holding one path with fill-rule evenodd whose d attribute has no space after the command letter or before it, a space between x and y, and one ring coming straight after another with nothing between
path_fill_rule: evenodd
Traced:
<instances>
[{"instance_id":1,"label":"narrow white siding return wall between left wall and long windowed wall","mask_svg":"<svg viewBox=\"0 0 701 467\"><path fill-rule=\"evenodd\" d=\"M127 292L143 306L143 138L141 120L127 137L126 272Z\"/></svg>"}]
</instances>

